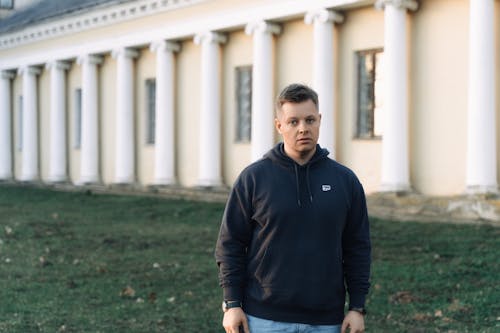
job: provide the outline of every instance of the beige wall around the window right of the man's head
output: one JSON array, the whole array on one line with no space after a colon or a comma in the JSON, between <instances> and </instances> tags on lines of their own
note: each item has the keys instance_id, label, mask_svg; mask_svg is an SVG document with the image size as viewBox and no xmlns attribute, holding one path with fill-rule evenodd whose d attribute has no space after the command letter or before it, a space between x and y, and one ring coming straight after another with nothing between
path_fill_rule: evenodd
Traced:
<instances>
[{"instance_id":1,"label":"beige wall around the window right of the man's head","mask_svg":"<svg viewBox=\"0 0 500 333\"><path fill-rule=\"evenodd\" d=\"M356 134L356 52L384 45L384 13L372 7L346 13L338 35L338 102L336 159L353 169L367 193L378 190L381 141L360 140Z\"/></svg>"}]
</instances>

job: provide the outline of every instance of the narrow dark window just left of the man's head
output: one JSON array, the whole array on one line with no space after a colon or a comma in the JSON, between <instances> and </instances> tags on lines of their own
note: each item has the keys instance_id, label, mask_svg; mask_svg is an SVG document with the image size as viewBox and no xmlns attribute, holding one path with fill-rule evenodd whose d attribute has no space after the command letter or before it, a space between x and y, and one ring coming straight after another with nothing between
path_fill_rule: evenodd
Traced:
<instances>
[{"instance_id":1,"label":"narrow dark window just left of the man's head","mask_svg":"<svg viewBox=\"0 0 500 333\"><path fill-rule=\"evenodd\" d=\"M252 130L252 66L236 68L236 142L249 142Z\"/></svg>"}]
</instances>

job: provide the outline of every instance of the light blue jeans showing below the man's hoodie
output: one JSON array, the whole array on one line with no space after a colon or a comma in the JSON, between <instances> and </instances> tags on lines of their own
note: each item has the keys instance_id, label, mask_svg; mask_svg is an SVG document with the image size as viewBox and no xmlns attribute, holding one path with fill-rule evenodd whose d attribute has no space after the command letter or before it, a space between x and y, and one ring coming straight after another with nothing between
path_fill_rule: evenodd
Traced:
<instances>
[{"instance_id":1,"label":"light blue jeans showing below the man's hoodie","mask_svg":"<svg viewBox=\"0 0 500 333\"><path fill-rule=\"evenodd\" d=\"M250 333L340 333L341 325L283 323L247 315Z\"/></svg>"}]
</instances>

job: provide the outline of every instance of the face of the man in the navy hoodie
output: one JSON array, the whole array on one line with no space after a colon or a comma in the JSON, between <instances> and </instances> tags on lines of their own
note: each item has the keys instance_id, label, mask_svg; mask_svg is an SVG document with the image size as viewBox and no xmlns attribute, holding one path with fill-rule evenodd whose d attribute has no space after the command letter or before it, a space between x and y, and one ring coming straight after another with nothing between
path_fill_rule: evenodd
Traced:
<instances>
[{"instance_id":1,"label":"face of the man in the navy hoodie","mask_svg":"<svg viewBox=\"0 0 500 333\"><path fill-rule=\"evenodd\" d=\"M283 136L285 152L294 160L308 160L316 151L321 115L311 100L285 103L278 110L275 126Z\"/></svg>"}]
</instances>

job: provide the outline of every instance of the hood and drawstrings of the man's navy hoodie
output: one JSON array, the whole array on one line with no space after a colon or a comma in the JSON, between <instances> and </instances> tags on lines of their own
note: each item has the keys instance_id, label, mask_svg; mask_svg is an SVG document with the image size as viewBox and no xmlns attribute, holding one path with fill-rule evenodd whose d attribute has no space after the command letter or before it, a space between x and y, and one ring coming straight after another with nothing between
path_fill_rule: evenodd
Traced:
<instances>
[{"instance_id":1,"label":"hood and drawstrings of the man's navy hoodie","mask_svg":"<svg viewBox=\"0 0 500 333\"><path fill-rule=\"evenodd\" d=\"M300 193L300 176L299 174L303 172L305 169L305 186L307 187L307 196L309 198L309 202L313 202L313 195L311 191L311 182L309 179L309 169L311 165L316 164L319 161L325 160L328 158L329 151L325 148L321 148L319 144L316 145L316 151L314 155L311 157L311 159L304 165L299 165L297 162L295 162L292 158L290 158L286 153L285 153L285 145L283 142L278 143L276 146L274 146L273 149L271 149L269 152L267 152L264 155L264 159L270 159L273 163L279 164L282 167L285 167L287 169L293 169L295 173L295 189L296 189L296 195L297 195L297 205L299 207L302 207L302 201L300 200L301 193Z\"/></svg>"}]
</instances>

